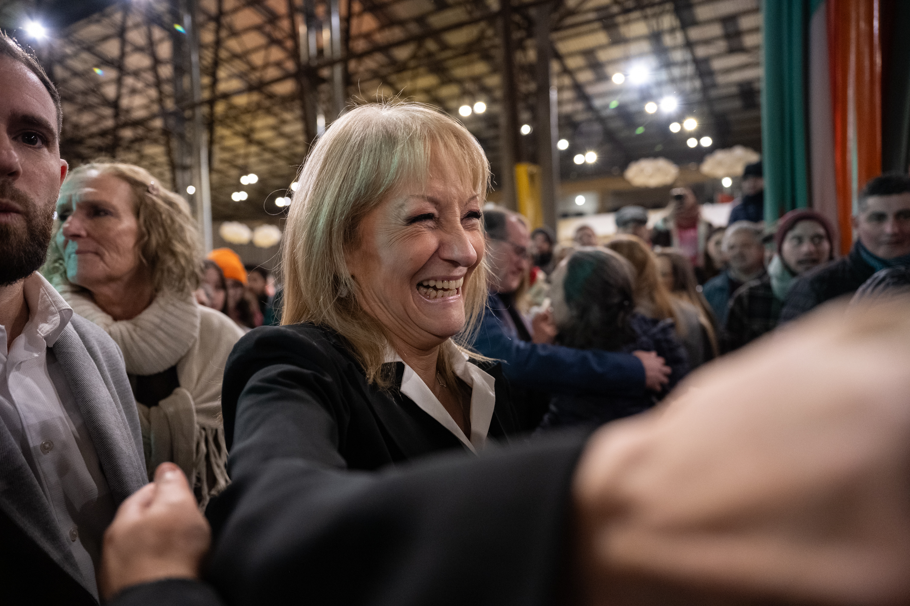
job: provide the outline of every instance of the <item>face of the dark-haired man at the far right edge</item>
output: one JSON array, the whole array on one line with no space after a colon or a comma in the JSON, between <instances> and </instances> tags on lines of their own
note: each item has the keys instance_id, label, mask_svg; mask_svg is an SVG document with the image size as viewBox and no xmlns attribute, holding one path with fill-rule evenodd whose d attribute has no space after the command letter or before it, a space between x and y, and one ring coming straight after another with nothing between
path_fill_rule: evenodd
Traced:
<instances>
[{"instance_id":1,"label":"face of the dark-haired man at the far right edge","mask_svg":"<svg viewBox=\"0 0 910 606\"><path fill-rule=\"evenodd\" d=\"M910 193L870 195L854 228L870 253L883 259L910 254Z\"/></svg>"}]
</instances>

